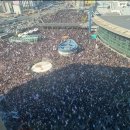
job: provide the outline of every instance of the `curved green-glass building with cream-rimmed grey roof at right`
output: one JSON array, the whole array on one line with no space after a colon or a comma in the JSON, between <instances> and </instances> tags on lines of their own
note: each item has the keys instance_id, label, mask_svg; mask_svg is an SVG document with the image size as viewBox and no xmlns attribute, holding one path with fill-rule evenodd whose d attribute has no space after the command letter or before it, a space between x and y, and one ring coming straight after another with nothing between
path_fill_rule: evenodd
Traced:
<instances>
[{"instance_id":1,"label":"curved green-glass building with cream-rimmed grey roof at right","mask_svg":"<svg viewBox=\"0 0 130 130\"><path fill-rule=\"evenodd\" d=\"M95 16L98 37L116 52L130 58L130 16Z\"/></svg>"}]
</instances>

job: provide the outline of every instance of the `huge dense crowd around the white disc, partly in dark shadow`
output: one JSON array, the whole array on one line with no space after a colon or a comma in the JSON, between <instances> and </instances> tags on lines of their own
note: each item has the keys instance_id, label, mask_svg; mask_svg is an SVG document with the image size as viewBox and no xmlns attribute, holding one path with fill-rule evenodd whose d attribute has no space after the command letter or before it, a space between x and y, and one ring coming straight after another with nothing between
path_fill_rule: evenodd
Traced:
<instances>
[{"instance_id":1,"label":"huge dense crowd around the white disc, partly in dark shadow","mask_svg":"<svg viewBox=\"0 0 130 130\"><path fill-rule=\"evenodd\" d=\"M130 62L101 41L89 41L86 29L40 28L40 33L46 38L36 44L0 43L3 109L19 117L8 116L7 129L129 130ZM78 53L58 53L64 36L78 43ZM31 72L43 60L53 69Z\"/></svg>"}]
</instances>

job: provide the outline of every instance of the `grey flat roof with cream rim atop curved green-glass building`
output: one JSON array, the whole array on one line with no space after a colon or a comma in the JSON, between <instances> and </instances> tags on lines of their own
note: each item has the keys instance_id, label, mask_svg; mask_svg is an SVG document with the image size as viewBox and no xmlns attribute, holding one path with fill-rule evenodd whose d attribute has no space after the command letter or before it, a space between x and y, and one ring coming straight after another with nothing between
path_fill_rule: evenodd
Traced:
<instances>
[{"instance_id":1,"label":"grey flat roof with cream rim atop curved green-glass building","mask_svg":"<svg viewBox=\"0 0 130 130\"><path fill-rule=\"evenodd\" d=\"M102 17L94 16L93 21L98 26L101 26L111 32L130 38L130 25L129 25L130 18L127 16L128 22L126 22L126 19L123 19L123 17L126 18L126 16L123 16L122 19L121 17L120 19L118 19L118 17L120 16L110 16L110 17L109 16L102 16Z\"/></svg>"}]
</instances>

